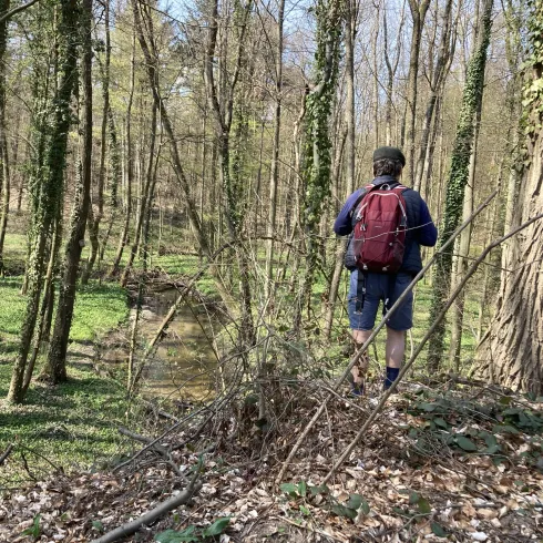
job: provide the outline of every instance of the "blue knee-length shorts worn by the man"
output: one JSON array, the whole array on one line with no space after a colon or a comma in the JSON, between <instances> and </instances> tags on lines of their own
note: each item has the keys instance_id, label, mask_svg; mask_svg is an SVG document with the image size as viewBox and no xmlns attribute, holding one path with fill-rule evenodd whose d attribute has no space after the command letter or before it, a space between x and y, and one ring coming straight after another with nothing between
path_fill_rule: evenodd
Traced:
<instances>
[{"instance_id":1,"label":"blue knee-length shorts worn by the man","mask_svg":"<svg viewBox=\"0 0 543 543\"><path fill-rule=\"evenodd\" d=\"M385 303L389 296L389 289L392 295L389 299L388 307L392 307L396 300L401 296L407 286L411 283L411 274L399 273L396 276L393 288L390 288L390 276L386 274L369 273L366 276L366 296L360 313L356 311L357 289L358 289L358 269L350 274L350 287L348 297L349 322L352 330L371 330L376 322L379 304ZM380 320L380 319L379 319ZM387 322L392 330L409 330L413 326L413 291L411 290L396 309L392 317Z\"/></svg>"}]
</instances>

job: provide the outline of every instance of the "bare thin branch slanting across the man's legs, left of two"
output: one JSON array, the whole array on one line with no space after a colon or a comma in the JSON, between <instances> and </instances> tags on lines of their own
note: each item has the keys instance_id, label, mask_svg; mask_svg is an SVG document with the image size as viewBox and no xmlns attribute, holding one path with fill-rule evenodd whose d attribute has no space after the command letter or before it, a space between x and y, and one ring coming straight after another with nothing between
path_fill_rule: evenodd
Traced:
<instances>
[{"instance_id":1,"label":"bare thin branch slanting across the man's legs, left of two","mask_svg":"<svg viewBox=\"0 0 543 543\"><path fill-rule=\"evenodd\" d=\"M409 293L414 288L419 279L428 272L430 266L444 253L447 247L451 245L454 239L460 235L460 233L491 203L491 201L494 198L494 196L498 194L498 191L494 191L473 213L472 215L465 219L452 234L451 237L441 246L439 250L437 250L433 255L433 257L428 262L428 264L414 276L413 280L408 285L403 294L396 300L396 304L392 305L392 307L388 310L387 315L381 319L379 325L373 329L369 338L363 342L363 345L358 349L357 352L355 352L355 356L351 358L350 362L348 363L346 370L344 373L336 380L336 382L332 386L334 390L337 390L339 386L347 379L347 376L350 373L351 368L355 366L355 363L358 362L359 358L363 355L366 349L369 347L371 341L376 338L376 336L379 334L381 328L385 327L387 321L390 319L390 317L393 315L393 313L397 310L397 308L403 303L406 297L409 295ZM311 428L315 426L317 420L320 418L322 412L326 409L326 404L328 403L328 400L331 398L331 395L328 395L327 398L322 400L322 403L320 404L320 408L317 410L313 419L307 423L306 428L299 436L298 440L294 444L293 449L290 450L290 453L288 454L287 459L285 460L279 474L277 475L275 480L275 484L278 485L283 477L285 475L285 472L288 468L288 464L291 462L294 459L295 454L298 452L298 449L301 447L304 443L306 437L310 432Z\"/></svg>"}]
</instances>

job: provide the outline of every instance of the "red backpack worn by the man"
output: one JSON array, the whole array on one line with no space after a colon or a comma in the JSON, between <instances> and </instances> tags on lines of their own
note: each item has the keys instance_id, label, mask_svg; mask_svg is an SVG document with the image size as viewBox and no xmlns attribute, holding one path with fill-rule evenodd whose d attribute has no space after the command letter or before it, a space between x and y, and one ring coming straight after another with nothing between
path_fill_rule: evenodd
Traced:
<instances>
[{"instance_id":1,"label":"red backpack worn by the man","mask_svg":"<svg viewBox=\"0 0 543 543\"><path fill-rule=\"evenodd\" d=\"M368 185L355 209L356 264L362 272L396 274L403 262L407 214L403 185Z\"/></svg>"}]
</instances>

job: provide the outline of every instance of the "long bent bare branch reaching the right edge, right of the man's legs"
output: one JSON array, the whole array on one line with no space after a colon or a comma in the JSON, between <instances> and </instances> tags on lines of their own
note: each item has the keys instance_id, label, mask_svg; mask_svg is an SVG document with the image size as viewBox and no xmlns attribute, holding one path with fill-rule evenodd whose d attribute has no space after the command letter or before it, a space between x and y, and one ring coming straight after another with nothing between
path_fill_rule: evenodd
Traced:
<instances>
[{"instance_id":1,"label":"long bent bare branch reaching the right edge, right of the man's legs","mask_svg":"<svg viewBox=\"0 0 543 543\"><path fill-rule=\"evenodd\" d=\"M426 342L430 339L431 335L436 331L436 328L441 322L441 320L443 320L444 316L447 315L447 311L452 306L452 304L457 299L458 295L462 291L462 289L464 288L465 284L468 283L468 280L477 272L477 269L479 268L479 265L484 260L484 258L486 257L486 255L493 248L498 247L503 242L505 242L510 237L514 236L515 234L518 234L522 229L526 228L532 223L535 223L535 221L539 221L540 218L543 218L543 213L540 213L539 215L536 215L535 217L531 218L530 221L526 221L525 223L521 224L520 226L518 226L516 228L514 228L513 230L511 230L509 234L506 234L506 235L504 235L504 236L495 239L490 245L488 245L486 248L473 262L473 264L470 266L470 268L468 269L468 272L465 273L465 275L462 277L462 280L458 284L457 288L454 289L454 291L452 293L452 295L447 300L447 304L441 309L441 313L438 315L438 318L433 321L432 326L429 328L429 330L427 331L427 334L422 338L421 342L418 345L418 347L414 350L414 352L411 356L411 358L401 368L400 373L398 375L396 381L392 383L392 386L381 397L379 403L376 406L376 408L373 409L373 411L369 416L368 420L362 424L362 427L360 428L360 430L357 433L357 436L349 443L349 445L347 447L347 449L345 449L345 451L341 453L341 455L339 457L339 460L334 464L334 467L331 468L331 470L328 472L328 474L324 479L322 483L326 483L334 475L334 473L337 471L337 469L345 462L345 460L352 452L352 450L355 449L355 447L357 445L357 443L360 441L360 439L362 438L362 436L365 436L365 433L368 431L368 428L370 427L370 424L376 420L377 416L379 414L379 412L383 408L383 406L387 402L387 400L389 399L389 397L396 391L396 388L398 387L398 383L401 381L401 379L407 373L407 371L409 370L409 368L412 366L412 363L414 362L414 360L417 360L418 356L420 355L420 352L424 348Z\"/></svg>"}]
</instances>

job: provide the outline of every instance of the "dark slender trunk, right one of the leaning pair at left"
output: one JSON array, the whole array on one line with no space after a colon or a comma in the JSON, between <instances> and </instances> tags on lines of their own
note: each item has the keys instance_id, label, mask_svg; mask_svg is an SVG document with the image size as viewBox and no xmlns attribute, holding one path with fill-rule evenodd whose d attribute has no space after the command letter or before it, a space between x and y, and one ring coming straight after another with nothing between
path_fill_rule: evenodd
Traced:
<instances>
[{"instance_id":1,"label":"dark slender trunk, right one of the leaning pair at left","mask_svg":"<svg viewBox=\"0 0 543 543\"><path fill-rule=\"evenodd\" d=\"M75 187L70 236L68 238L64 270L60 285L59 305L54 320L53 336L48 354L43 377L53 383L65 381L66 351L72 326L75 286L79 274L81 252L84 245L86 219L91 192L92 166L92 0L82 0L79 21L81 40L81 121L80 121L80 165Z\"/></svg>"}]
</instances>

